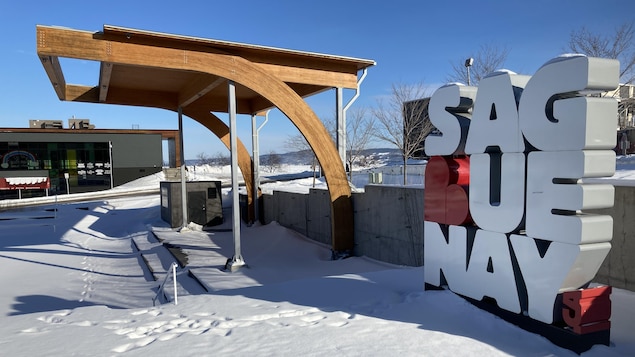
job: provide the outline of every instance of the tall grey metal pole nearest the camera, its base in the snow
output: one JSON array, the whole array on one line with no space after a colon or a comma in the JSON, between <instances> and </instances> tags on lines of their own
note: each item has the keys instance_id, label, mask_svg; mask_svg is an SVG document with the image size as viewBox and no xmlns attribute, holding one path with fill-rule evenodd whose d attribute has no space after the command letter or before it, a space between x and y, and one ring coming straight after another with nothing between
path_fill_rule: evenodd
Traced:
<instances>
[{"instance_id":1,"label":"tall grey metal pole nearest the camera, its base in the snow","mask_svg":"<svg viewBox=\"0 0 635 357\"><path fill-rule=\"evenodd\" d=\"M229 143L231 151L232 174L232 235L234 237L234 256L227 262L225 268L237 271L245 266L240 252L240 206L238 196L238 138L236 137L236 85L228 82L229 97Z\"/></svg>"}]
</instances>

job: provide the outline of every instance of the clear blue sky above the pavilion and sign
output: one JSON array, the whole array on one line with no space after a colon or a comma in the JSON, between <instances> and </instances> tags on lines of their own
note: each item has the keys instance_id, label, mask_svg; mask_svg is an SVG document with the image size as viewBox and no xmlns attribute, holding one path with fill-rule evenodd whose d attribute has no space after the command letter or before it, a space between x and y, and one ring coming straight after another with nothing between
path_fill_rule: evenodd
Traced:
<instances>
[{"instance_id":1,"label":"clear blue sky above the pavilion and sign","mask_svg":"<svg viewBox=\"0 0 635 357\"><path fill-rule=\"evenodd\" d=\"M0 127L27 127L29 119L88 118L97 128L176 129L164 110L60 102L36 56L35 27L57 25L99 31L104 24L372 59L353 107L369 107L391 84L443 84L451 63L483 44L507 47L505 68L533 74L564 52L572 31L585 26L612 33L634 21L632 0L418 1L4 1L0 5ZM67 82L96 84L98 67L62 62ZM354 92L346 90L345 101ZM335 93L308 100L317 115L333 118ZM226 119L221 117L222 119ZM239 137L251 147L251 121L238 118ZM297 129L274 110L261 131L261 153L288 151ZM200 124L184 120L185 155L226 153ZM379 144L388 146L388 144Z\"/></svg>"}]
</instances>

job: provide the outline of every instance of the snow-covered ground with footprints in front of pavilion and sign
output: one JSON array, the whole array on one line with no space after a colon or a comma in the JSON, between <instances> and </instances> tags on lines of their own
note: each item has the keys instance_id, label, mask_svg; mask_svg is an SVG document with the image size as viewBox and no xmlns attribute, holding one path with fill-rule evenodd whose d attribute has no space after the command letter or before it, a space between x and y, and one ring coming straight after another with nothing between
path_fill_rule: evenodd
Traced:
<instances>
[{"instance_id":1,"label":"snow-covered ground with footprints in front of pavilion and sign","mask_svg":"<svg viewBox=\"0 0 635 357\"><path fill-rule=\"evenodd\" d=\"M627 182L635 160L622 161ZM205 170L199 179L222 179ZM269 185L308 190L312 178ZM450 292L424 291L424 268L331 261L328 247L276 223L243 226L249 267L224 272L231 232L175 232L156 194L14 209L0 222L0 355L575 355ZM164 268L171 260L152 231L182 247L208 293L182 285L178 305L153 306L160 280L141 253ZM584 356L635 356L635 293L611 299L611 346Z\"/></svg>"}]
</instances>

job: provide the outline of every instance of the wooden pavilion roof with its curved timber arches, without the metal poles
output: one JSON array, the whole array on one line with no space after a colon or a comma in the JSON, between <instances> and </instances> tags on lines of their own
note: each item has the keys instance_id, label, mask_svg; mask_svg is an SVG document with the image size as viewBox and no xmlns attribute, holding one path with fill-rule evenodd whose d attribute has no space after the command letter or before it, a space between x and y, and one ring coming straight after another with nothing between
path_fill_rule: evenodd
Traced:
<instances>
[{"instance_id":1,"label":"wooden pavilion roof with its curved timber arches, without the metal poles","mask_svg":"<svg viewBox=\"0 0 635 357\"><path fill-rule=\"evenodd\" d=\"M212 112L257 115L278 108L306 138L323 168L333 250L353 249L353 208L344 165L303 98L332 88L358 89L358 72L374 61L109 25L98 32L37 26L37 53L60 100L183 113L230 149L230 127ZM66 83L59 58L99 62L99 83ZM237 155L253 212L250 155L240 142L232 155Z\"/></svg>"}]
</instances>

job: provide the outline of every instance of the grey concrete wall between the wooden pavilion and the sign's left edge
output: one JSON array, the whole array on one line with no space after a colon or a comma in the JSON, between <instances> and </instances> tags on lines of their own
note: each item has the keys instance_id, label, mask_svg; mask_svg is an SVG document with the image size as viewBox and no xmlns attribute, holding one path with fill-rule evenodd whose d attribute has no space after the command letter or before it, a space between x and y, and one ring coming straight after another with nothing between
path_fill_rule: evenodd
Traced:
<instances>
[{"instance_id":1,"label":"grey concrete wall between the wooden pavilion and the sign's left edge","mask_svg":"<svg viewBox=\"0 0 635 357\"><path fill-rule=\"evenodd\" d=\"M265 223L280 225L331 244L331 207L326 190L263 195ZM353 194L355 255L401 265L423 264L423 189L366 186Z\"/></svg>"}]
</instances>

